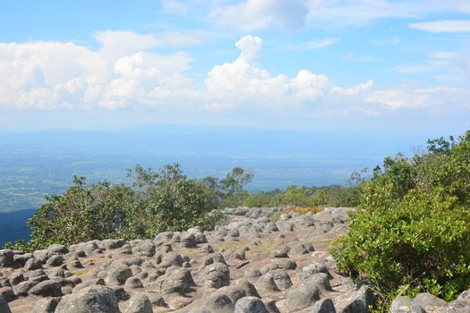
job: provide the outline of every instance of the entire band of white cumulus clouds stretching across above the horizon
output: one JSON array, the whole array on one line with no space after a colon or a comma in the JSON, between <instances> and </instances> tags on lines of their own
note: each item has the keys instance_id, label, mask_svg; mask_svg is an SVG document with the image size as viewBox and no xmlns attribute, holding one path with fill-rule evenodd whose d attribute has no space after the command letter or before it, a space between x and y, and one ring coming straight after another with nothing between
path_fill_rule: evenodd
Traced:
<instances>
[{"instance_id":1,"label":"entire band of white cumulus clouds stretching across above the horizon","mask_svg":"<svg viewBox=\"0 0 470 313\"><path fill-rule=\"evenodd\" d=\"M123 34L119 32L118 34ZM274 75L257 59L263 41L247 35L240 54L215 65L197 88L185 75L192 57L161 55L158 37L99 32L96 50L73 43L0 44L0 106L38 109L151 106L167 112L313 112L380 114L380 111L437 106L454 89L376 89L372 80L333 85L308 69ZM121 40L121 41L120 41ZM437 55L449 56L449 55Z\"/></svg>"}]
</instances>

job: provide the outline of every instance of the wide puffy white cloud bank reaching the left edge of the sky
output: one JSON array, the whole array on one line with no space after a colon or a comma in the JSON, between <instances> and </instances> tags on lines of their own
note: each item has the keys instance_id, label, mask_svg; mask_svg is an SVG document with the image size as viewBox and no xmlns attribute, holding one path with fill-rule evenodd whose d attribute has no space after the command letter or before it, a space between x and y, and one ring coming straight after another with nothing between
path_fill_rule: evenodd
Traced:
<instances>
[{"instance_id":1,"label":"wide puffy white cloud bank reaching the left edge of the sky","mask_svg":"<svg viewBox=\"0 0 470 313\"><path fill-rule=\"evenodd\" d=\"M148 102L155 84L182 87L192 59L144 52L158 37L102 31L98 51L73 43L0 44L0 106L131 106Z\"/></svg>"}]
</instances>

